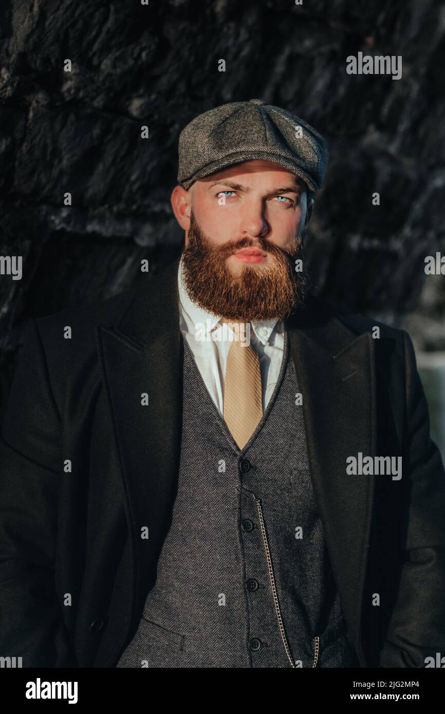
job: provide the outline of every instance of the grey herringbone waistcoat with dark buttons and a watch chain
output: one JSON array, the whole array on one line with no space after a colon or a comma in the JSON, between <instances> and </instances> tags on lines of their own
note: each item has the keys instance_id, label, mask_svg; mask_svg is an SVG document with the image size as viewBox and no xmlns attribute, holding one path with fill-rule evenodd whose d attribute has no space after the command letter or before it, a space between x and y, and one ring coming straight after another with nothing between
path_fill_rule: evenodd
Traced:
<instances>
[{"instance_id":1,"label":"grey herringbone waistcoat with dark buttons and a watch chain","mask_svg":"<svg viewBox=\"0 0 445 714\"><path fill-rule=\"evenodd\" d=\"M116 667L359 666L314 499L287 331L274 393L242 451L183 344L171 527Z\"/></svg>"}]
</instances>

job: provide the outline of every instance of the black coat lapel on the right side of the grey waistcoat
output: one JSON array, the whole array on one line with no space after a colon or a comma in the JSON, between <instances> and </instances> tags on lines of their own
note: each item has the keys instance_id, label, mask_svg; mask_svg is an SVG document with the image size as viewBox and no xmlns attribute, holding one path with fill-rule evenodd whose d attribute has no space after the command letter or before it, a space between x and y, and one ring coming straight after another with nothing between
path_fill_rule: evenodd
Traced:
<instances>
[{"instance_id":1,"label":"black coat lapel on the right side of the grey waistcoat","mask_svg":"<svg viewBox=\"0 0 445 714\"><path fill-rule=\"evenodd\" d=\"M374 476L348 476L346 458L376 454L374 340L349 331L313 296L287 326L314 492L341 606L365 666L360 623Z\"/></svg>"}]
</instances>

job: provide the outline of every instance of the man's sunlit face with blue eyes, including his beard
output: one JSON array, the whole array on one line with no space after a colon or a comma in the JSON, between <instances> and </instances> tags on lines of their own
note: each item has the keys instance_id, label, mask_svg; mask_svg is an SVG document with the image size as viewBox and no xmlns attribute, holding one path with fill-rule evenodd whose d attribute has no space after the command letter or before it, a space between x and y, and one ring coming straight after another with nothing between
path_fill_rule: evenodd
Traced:
<instances>
[{"instance_id":1,"label":"man's sunlit face with blue eyes, including his beard","mask_svg":"<svg viewBox=\"0 0 445 714\"><path fill-rule=\"evenodd\" d=\"M245 161L176 186L174 213L186 230L184 281L192 300L239 321L281 318L306 291L303 236L311 209L304 183L278 164Z\"/></svg>"}]
</instances>

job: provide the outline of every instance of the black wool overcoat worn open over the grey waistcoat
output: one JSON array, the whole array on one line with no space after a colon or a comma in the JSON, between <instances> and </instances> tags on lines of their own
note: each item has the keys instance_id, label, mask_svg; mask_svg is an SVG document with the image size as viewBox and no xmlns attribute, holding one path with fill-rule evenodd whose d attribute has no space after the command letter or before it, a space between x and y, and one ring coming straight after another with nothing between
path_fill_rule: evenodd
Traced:
<instances>
[{"instance_id":1,"label":"black wool overcoat worn open over the grey waistcoat","mask_svg":"<svg viewBox=\"0 0 445 714\"><path fill-rule=\"evenodd\" d=\"M0 444L0 655L24 667L114 667L154 584L181 446L177 269L27 328ZM445 654L445 475L411 338L315 296L287 328L360 665L424 667ZM401 479L347 475L359 452L401 456Z\"/></svg>"}]
</instances>

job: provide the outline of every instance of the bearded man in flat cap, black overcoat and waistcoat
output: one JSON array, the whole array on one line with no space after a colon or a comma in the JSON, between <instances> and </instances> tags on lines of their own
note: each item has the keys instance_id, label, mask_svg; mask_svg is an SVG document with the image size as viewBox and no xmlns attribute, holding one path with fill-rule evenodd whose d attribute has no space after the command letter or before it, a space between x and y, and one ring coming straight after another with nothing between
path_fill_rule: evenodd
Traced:
<instances>
[{"instance_id":1,"label":"bearded man in flat cap, black overcoat and waistcoat","mask_svg":"<svg viewBox=\"0 0 445 714\"><path fill-rule=\"evenodd\" d=\"M445 650L444 468L411 339L307 294L327 156L259 99L197 117L181 260L31 322L0 447L2 655L419 668Z\"/></svg>"}]
</instances>

